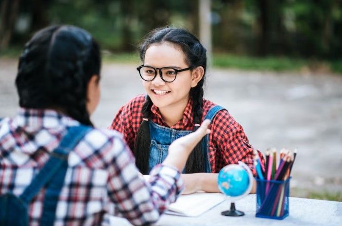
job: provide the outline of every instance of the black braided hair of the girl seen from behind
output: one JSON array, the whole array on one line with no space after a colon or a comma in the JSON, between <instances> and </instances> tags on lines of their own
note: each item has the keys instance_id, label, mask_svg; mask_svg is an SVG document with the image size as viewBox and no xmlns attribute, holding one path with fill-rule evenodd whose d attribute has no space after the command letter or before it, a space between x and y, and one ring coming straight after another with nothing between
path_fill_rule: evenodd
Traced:
<instances>
[{"instance_id":1,"label":"black braided hair of the girl seen from behind","mask_svg":"<svg viewBox=\"0 0 342 226\"><path fill-rule=\"evenodd\" d=\"M93 125L86 108L87 86L100 74L99 46L85 30L64 25L38 31L19 58L16 87L19 105L60 109Z\"/></svg>"}]
</instances>

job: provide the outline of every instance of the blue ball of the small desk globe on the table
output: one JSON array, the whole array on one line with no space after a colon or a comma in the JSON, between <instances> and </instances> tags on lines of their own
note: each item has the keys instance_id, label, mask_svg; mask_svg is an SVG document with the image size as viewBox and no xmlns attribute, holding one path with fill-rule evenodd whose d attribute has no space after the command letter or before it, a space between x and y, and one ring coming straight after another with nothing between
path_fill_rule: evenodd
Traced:
<instances>
[{"instance_id":1,"label":"blue ball of the small desk globe on the table","mask_svg":"<svg viewBox=\"0 0 342 226\"><path fill-rule=\"evenodd\" d=\"M218 175L218 186L222 193L237 197L243 195L249 187L247 171L240 165L228 165Z\"/></svg>"}]
</instances>

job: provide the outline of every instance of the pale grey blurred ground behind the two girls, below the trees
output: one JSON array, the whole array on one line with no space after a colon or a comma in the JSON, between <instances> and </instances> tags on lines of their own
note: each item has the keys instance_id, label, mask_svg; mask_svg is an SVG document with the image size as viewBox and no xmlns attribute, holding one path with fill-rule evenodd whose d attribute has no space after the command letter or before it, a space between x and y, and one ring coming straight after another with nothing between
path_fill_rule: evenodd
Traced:
<instances>
[{"instance_id":1,"label":"pale grey blurred ground behind the two girls, below the trees","mask_svg":"<svg viewBox=\"0 0 342 226\"><path fill-rule=\"evenodd\" d=\"M121 105L144 92L135 67L103 66L96 126L109 126ZM18 110L16 68L0 58L0 117ZM342 191L342 76L213 69L205 98L228 109L262 152L298 148L291 196Z\"/></svg>"}]
</instances>

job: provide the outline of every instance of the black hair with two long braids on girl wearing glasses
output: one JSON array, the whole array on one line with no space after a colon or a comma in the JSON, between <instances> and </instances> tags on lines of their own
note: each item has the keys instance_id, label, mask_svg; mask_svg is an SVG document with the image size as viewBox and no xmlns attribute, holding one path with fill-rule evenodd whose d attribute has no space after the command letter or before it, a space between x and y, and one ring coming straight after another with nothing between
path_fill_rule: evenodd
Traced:
<instances>
[{"instance_id":1,"label":"black hair with two long braids on girl wearing glasses","mask_svg":"<svg viewBox=\"0 0 342 226\"><path fill-rule=\"evenodd\" d=\"M179 28L159 28L153 30L140 45L140 59L144 62L146 50L153 43L168 42L173 44L185 55L185 63L192 69L196 67L203 67L204 73L207 68L207 50L202 46L200 41L192 35L190 32ZM203 84L205 76L199 81L196 87L190 89L190 98L192 99L192 114L193 122L200 124L203 115ZM151 119L151 107L152 101L147 96L146 101L142 107L143 118ZM198 126L194 126L195 131ZM199 142L195 149L191 152L187 164L185 166L186 173L200 173L205 172L205 162L202 153L202 142ZM134 156L135 164L143 174L148 173L149 168L149 156L150 156L150 128L149 123L143 120L139 126L139 130L135 139Z\"/></svg>"}]
</instances>

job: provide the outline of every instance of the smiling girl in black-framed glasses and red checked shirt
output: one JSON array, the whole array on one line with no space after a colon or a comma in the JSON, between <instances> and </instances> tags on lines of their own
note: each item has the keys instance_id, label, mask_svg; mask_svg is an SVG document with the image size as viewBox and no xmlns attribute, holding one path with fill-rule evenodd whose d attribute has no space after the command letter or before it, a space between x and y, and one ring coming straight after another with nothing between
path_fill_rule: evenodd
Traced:
<instances>
[{"instance_id":1,"label":"smiling girl in black-framed glasses and red checked shirt","mask_svg":"<svg viewBox=\"0 0 342 226\"><path fill-rule=\"evenodd\" d=\"M196 145L183 170L184 192L219 191L216 173L238 161L255 174L253 147L242 126L226 109L203 98L207 56L199 40L184 29L159 28L141 44L140 59L143 65L137 70L147 95L122 106L110 126L123 133L140 172L148 174L174 139L209 119L211 133Z\"/></svg>"}]
</instances>

